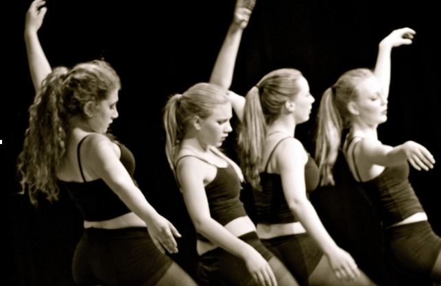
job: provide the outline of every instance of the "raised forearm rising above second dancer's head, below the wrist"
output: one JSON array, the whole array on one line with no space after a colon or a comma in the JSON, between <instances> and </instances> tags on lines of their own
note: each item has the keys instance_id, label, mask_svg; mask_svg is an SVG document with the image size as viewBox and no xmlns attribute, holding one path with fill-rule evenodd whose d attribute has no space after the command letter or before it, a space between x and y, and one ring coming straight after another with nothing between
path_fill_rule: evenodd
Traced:
<instances>
[{"instance_id":1,"label":"raised forearm rising above second dancer's head, below the wrist","mask_svg":"<svg viewBox=\"0 0 441 286\"><path fill-rule=\"evenodd\" d=\"M233 72L242 34L243 28L234 23L230 25L211 73L211 84L216 84L226 89L230 88L231 82L233 82Z\"/></svg>"}]
</instances>

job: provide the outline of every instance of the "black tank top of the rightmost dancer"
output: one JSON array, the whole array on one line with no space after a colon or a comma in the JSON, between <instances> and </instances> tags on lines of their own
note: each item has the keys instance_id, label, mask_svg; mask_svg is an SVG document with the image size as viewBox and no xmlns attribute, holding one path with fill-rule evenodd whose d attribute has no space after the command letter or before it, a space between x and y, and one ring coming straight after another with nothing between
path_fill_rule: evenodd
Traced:
<instances>
[{"instance_id":1,"label":"black tank top of the rightmost dancer","mask_svg":"<svg viewBox=\"0 0 441 286\"><path fill-rule=\"evenodd\" d=\"M349 148L350 143L356 138L361 137L355 136L350 139L347 148ZM361 140L354 144L359 143ZM353 151L354 150L355 145L353 147ZM348 149L346 149L346 154L347 151ZM355 160L354 153L352 158ZM385 167L379 176L366 182L361 182L355 161L353 162L353 166L357 180L363 189L369 193L371 198L374 199L374 202L376 202L377 209L383 220L383 226L392 226L415 213L424 212L420 200L418 200L414 188L409 182L409 165L407 163Z\"/></svg>"}]
</instances>

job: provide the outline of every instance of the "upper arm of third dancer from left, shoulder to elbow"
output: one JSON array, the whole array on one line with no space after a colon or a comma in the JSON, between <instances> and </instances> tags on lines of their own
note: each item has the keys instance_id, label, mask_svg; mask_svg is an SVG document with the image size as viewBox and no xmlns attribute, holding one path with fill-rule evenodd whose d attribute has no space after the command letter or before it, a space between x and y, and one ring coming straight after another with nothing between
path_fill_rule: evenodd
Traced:
<instances>
[{"instance_id":1,"label":"upper arm of third dancer from left, shoulder to elbow","mask_svg":"<svg viewBox=\"0 0 441 286\"><path fill-rule=\"evenodd\" d=\"M305 164L307 153L297 139L285 140L276 150L277 169L288 204L307 200Z\"/></svg>"}]
</instances>

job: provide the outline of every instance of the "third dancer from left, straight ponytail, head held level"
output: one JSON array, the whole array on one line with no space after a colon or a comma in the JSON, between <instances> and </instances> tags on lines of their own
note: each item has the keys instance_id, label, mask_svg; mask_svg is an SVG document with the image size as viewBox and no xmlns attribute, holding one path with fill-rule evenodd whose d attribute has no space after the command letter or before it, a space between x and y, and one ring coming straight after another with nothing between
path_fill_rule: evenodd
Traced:
<instances>
[{"instance_id":1,"label":"third dancer from left, straight ponytail, head held level","mask_svg":"<svg viewBox=\"0 0 441 286\"><path fill-rule=\"evenodd\" d=\"M296 69L268 73L246 95L239 158L254 192L257 234L302 285L374 285L309 202L318 167L294 134L313 102Z\"/></svg>"}]
</instances>

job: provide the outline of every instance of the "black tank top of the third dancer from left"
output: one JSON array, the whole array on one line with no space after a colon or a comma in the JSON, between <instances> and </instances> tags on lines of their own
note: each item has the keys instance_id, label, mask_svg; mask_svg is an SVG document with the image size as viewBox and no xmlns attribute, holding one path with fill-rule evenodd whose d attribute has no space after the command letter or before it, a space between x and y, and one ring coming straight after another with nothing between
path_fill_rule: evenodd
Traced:
<instances>
[{"instance_id":1,"label":"black tank top of the third dancer from left","mask_svg":"<svg viewBox=\"0 0 441 286\"><path fill-rule=\"evenodd\" d=\"M257 211L257 223L259 224L285 224L290 222L298 222L289 208L283 193L282 180L279 174L268 174L267 168L270 163L272 154L276 147L285 139L292 137L285 137L278 141L274 146L265 166L265 171L260 174L262 190L253 190L254 201ZM296 158L293 158L296 160ZM319 172L315 161L308 154L308 161L305 165L305 185L307 191L307 198L309 193L315 190L318 186Z\"/></svg>"}]
</instances>

